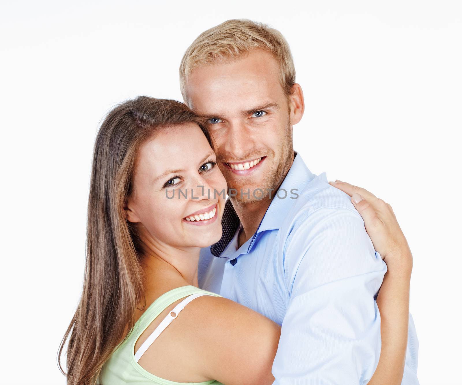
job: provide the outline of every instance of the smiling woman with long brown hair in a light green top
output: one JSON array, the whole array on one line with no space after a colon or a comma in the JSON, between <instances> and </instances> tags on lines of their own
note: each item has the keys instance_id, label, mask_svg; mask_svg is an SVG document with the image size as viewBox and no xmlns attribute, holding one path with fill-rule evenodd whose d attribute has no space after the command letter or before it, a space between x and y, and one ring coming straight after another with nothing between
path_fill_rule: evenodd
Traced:
<instances>
[{"instance_id":1,"label":"smiling woman with long brown hair in a light green top","mask_svg":"<svg viewBox=\"0 0 462 385\"><path fill-rule=\"evenodd\" d=\"M198 185L195 198L184 196ZM183 195L173 196L173 187ZM61 355L68 340L68 384L274 381L280 326L197 288L200 248L222 234L225 199L213 191L223 189L204 121L184 104L138 97L109 113L94 148L82 298L60 348ZM407 330L407 275L397 271L410 277L412 256L391 208L359 191L366 230L390 259L391 278L377 297L382 353L370 383L399 383L407 331L390 335L396 325Z\"/></svg>"}]
</instances>

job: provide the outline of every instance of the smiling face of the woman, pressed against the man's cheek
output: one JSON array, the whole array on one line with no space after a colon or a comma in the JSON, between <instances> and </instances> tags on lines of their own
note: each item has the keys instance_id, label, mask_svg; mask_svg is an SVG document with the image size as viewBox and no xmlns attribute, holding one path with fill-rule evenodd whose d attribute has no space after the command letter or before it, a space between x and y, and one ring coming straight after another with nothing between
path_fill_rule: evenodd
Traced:
<instances>
[{"instance_id":1,"label":"smiling face of the woman, pressed against the man's cheek","mask_svg":"<svg viewBox=\"0 0 462 385\"><path fill-rule=\"evenodd\" d=\"M138 154L125 212L154 248L207 247L222 234L226 181L195 123L160 129ZM207 219L209 218L209 219ZM144 228L143 228L144 227Z\"/></svg>"}]
</instances>

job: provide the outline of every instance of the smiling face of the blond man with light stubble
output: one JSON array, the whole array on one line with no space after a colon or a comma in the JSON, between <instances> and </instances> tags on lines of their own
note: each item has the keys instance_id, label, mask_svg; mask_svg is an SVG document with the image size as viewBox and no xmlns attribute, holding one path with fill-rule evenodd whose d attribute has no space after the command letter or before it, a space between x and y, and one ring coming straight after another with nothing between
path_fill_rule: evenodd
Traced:
<instances>
[{"instance_id":1,"label":"smiling face of the blond man with light stubble","mask_svg":"<svg viewBox=\"0 0 462 385\"><path fill-rule=\"evenodd\" d=\"M301 116L294 122L273 56L256 50L198 67L185 90L186 103L209 118L220 170L237 201L255 202L277 189L292 165L292 124Z\"/></svg>"}]
</instances>

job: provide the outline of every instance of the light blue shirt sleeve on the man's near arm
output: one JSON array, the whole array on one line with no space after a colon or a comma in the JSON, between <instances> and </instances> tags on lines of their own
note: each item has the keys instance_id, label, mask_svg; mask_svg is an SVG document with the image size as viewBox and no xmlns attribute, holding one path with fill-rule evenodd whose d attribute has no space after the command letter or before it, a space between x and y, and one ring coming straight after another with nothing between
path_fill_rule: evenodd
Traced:
<instances>
[{"instance_id":1,"label":"light blue shirt sleeve on the man's near arm","mask_svg":"<svg viewBox=\"0 0 462 385\"><path fill-rule=\"evenodd\" d=\"M387 268L353 210L319 208L286 239L290 299L274 384L367 384L377 367L375 298Z\"/></svg>"}]
</instances>

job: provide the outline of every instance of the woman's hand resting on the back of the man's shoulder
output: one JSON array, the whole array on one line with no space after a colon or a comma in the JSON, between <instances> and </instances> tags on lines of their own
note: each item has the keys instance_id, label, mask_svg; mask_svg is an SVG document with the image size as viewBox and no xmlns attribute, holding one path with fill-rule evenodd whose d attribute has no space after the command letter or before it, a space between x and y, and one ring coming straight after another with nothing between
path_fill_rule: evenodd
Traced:
<instances>
[{"instance_id":1,"label":"woman's hand resting on the back of the man's shoulder","mask_svg":"<svg viewBox=\"0 0 462 385\"><path fill-rule=\"evenodd\" d=\"M340 180L329 183L352 197L374 249L385 263L399 263L412 269L412 253L391 206L361 187Z\"/></svg>"}]
</instances>

